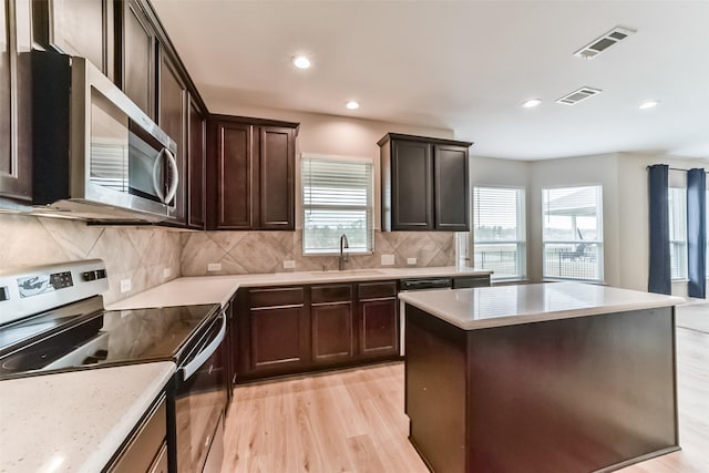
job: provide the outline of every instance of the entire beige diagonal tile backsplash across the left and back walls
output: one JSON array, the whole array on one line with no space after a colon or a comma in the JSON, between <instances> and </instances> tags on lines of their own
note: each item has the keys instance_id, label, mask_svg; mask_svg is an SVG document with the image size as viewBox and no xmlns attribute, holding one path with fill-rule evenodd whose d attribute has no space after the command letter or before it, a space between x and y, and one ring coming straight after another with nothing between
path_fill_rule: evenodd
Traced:
<instances>
[{"instance_id":1,"label":"entire beige diagonal tile backsplash across the left and back walls","mask_svg":"<svg viewBox=\"0 0 709 473\"><path fill-rule=\"evenodd\" d=\"M301 232L174 232L155 227L92 226L80 220L0 214L0 269L101 258L106 263L106 304L179 276L337 269L336 256L304 256ZM346 269L455 265L454 233L376 232L372 255L350 255ZM284 269L284 260L295 268ZM207 265L220 270L208 271ZM166 275L166 273L168 275ZM121 292L121 280L132 288Z\"/></svg>"}]
</instances>

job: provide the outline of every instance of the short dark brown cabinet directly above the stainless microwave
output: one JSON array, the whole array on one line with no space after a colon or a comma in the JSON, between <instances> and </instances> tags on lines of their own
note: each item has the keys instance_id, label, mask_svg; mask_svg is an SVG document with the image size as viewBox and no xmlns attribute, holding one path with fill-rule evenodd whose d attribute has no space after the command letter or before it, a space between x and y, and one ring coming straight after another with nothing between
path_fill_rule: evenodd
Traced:
<instances>
[{"instance_id":1,"label":"short dark brown cabinet directly above the stainless microwave","mask_svg":"<svg viewBox=\"0 0 709 473\"><path fill-rule=\"evenodd\" d=\"M113 0L34 0L32 9L39 44L86 58L114 80Z\"/></svg>"}]
</instances>

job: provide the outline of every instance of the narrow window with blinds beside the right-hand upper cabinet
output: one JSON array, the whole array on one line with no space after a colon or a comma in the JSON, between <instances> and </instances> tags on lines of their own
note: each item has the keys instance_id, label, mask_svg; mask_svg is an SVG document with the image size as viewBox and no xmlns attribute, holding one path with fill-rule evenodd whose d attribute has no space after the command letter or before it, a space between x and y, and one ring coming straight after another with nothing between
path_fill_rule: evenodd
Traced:
<instances>
[{"instance_id":1,"label":"narrow window with blinds beside the right-hand upper cabinet","mask_svg":"<svg viewBox=\"0 0 709 473\"><path fill-rule=\"evenodd\" d=\"M476 268L493 270L493 279L523 279L526 276L524 215L524 189L473 189Z\"/></svg>"}]
</instances>

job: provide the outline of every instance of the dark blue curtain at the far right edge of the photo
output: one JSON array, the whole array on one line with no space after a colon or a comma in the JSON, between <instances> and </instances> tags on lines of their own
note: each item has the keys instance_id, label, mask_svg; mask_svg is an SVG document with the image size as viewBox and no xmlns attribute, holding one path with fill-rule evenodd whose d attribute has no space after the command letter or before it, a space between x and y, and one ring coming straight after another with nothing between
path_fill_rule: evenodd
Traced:
<instances>
[{"instance_id":1,"label":"dark blue curtain at the far right edge of the photo","mask_svg":"<svg viewBox=\"0 0 709 473\"><path fill-rule=\"evenodd\" d=\"M707 174L687 172L687 264L689 297L707 297Z\"/></svg>"}]
</instances>

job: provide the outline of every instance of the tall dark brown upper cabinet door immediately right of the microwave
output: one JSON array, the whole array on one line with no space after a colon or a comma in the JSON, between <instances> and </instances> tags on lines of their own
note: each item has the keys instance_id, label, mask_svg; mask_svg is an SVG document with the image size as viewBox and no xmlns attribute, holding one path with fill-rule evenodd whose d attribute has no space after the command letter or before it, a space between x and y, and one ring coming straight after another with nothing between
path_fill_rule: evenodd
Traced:
<instances>
[{"instance_id":1,"label":"tall dark brown upper cabinet door immediately right of the microwave","mask_svg":"<svg viewBox=\"0 0 709 473\"><path fill-rule=\"evenodd\" d=\"M157 97L157 126L177 144L178 184L175 194L175 219L185 223L187 217L187 88L184 85L169 55L160 54Z\"/></svg>"}]
</instances>

